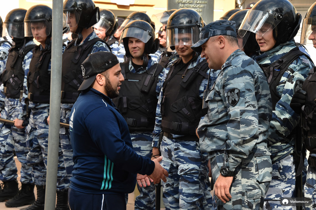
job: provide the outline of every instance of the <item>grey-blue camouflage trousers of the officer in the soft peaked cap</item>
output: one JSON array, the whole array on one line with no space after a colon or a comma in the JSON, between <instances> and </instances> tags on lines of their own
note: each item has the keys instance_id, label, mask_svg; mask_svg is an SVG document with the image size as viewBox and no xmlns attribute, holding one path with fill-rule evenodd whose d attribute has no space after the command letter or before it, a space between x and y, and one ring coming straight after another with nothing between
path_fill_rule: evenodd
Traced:
<instances>
[{"instance_id":1,"label":"grey-blue camouflage trousers of the officer in the soft peaked cap","mask_svg":"<svg viewBox=\"0 0 316 210\"><path fill-rule=\"evenodd\" d=\"M257 147L255 151L248 155L236 169L230 195L232 199L223 203L216 197L218 209L262 209L264 195L268 190L271 181L271 159L266 146ZM217 154L210 158L212 178L216 183L220 175L220 169L224 163L224 153Z\"/></svg>"}]
</instances>

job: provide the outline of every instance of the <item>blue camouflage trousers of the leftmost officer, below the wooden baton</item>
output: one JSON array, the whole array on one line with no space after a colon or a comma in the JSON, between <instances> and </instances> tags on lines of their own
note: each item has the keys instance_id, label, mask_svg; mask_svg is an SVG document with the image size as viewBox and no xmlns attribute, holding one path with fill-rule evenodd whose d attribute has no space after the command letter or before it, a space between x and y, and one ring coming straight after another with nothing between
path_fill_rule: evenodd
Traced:
<instances>
[{"instance_id":1,"label":"blue camouflage trousers of the leftmost officer, below the wooden baton","mask_svg":"<svg viewBox=\"0 0 316 210\"><path fill-rule=\"evenodd\" d=\"M18 115L18 110L12 102L6 101L5 109L1 113L1 118L14 120ZM21 183L32 183L32 168L27 166L27 147L25 128L18 129L14 125L0 124L0 180L11 181L18 177L13 150L17 159L21 163Z\"/></svg>"}]
</instances>

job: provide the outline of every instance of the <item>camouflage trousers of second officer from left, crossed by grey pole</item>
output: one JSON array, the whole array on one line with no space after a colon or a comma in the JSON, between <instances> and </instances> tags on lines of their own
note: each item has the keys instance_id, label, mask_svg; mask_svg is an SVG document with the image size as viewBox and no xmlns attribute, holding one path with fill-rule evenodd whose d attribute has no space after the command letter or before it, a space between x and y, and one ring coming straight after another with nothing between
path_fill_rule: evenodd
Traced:
<instances>
[{"instance_id":1,"label":"camouflage trousers of second officer from left, crossed by grey pole","mask_svg":"<svg viewBox=\"0 0 316 210\"><path fill-rule=\"evenodd\" d=\"M48 152L48 125L44 120L48 117L48 108L32 109L27 125L27 165L32 167L33 182L36 185L46 184L46 167ZM64 178L66 176L64 158L59 144L57 190L65 189Z\"/></svg>"}]
</instances>

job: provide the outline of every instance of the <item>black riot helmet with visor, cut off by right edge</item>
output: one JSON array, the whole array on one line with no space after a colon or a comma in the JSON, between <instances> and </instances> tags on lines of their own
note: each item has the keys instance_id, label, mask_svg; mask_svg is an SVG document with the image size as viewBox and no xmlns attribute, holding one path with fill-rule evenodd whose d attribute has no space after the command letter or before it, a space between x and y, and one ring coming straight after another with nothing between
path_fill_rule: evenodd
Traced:
<instances>
[{"instance_id":1,"label":"black riot helmet with visor, cut off by right edge","mask_svg":"<svg viewBox=\"0 0 316 210\"><path fill-rule=\"evenodd\" d=\"M302 32L301 32L301 44L312 45L313 38L316 37L316 2L307 10L305 18L303 19ZM311 37L311 40L308 38Z\"/></svg>"}]
</instances>

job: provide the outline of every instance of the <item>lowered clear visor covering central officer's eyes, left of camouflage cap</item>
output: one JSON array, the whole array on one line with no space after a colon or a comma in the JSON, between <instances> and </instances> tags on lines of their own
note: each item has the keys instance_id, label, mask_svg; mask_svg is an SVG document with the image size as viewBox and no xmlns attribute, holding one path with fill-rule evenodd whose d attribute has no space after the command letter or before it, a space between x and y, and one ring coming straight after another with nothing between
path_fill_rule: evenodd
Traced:
<instances>
[{"instance_id":1,"label":"lowered clear visor covering central officer's eyes, left of camouflage cap","mask_svg":"<svg viewBox=\"0 0 316 210\"><path fill-rule=\"evenodd\" d=\"M167 47L177 45L194 45L197 43L200 39L200 30L195 27L167 28Z\"/></svg>"}]
</instances>

